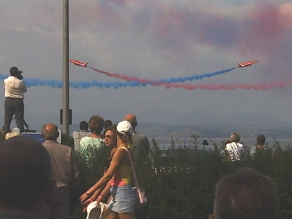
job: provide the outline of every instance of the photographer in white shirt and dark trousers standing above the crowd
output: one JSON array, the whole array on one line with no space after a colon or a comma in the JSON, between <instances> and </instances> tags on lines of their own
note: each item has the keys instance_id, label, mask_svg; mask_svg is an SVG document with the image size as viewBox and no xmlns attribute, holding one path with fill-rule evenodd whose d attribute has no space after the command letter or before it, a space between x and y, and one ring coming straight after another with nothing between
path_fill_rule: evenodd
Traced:
<instances>
[{"instance_id":1,"label":"photographer in white shirt and dark trousers standing above the crowd","mask_svg":"<svg viewBox=\"0 0 292 219\"><path fill-rule=\"evenodd\" d=\"M10 76L4 80L5 86L5 115L4 115L4 128L3 134L6 135L10 131L10 123L13 115L15 115L15 121L17 128L20 132L24 131L23 127L23 116L24 116L24 104L23 99L27 91L23 77L21 75L22 71L19 71L17 67L11 67Z\"/></svg>"}]
</instances>

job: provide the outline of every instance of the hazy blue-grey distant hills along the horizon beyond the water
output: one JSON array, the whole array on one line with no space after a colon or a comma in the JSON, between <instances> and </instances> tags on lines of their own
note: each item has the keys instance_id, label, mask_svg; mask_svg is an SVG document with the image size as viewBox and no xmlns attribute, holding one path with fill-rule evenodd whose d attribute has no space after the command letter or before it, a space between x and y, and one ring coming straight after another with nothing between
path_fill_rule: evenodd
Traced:
<instances>
[{"instance_id":1,"label":"hazy blue-grey distant hills along the horizon beyond the water","mask_svg":"<svg viewBox=\"0 0 292 219\"><path fill-rule=\"evenodd\" d=\"M281 121L270 114L236 113L226 117L220 117L194 110L192 112L186 112L183 115L173 113L171 117L167 118L164 117L163 112L157 112L155 117L157 116L159 120L152 120L151 122L143 122L138 117L137 131L145 133L149 137L189 136L190 134L197 133L207 138L228 138L230 133L234 131L239 132L242 137L253 137L258 134L264 134L268 138L292 137L292 124ZM144 117L147 117L147 114ZM81 121L79 119L86 120L86 118L90 118L90 115L74 114L70 131L78 130L79 122ZM149 118L154 118L154 115ZM1 119L3 118L0 118L0 122L3 124ZM29 128L35 129L36 131L40 131L42 125L49 122L55 123L61 128L59 114L26 112L25 120L29 124ZM118 120L116 119L115 121ZM11 124L11 127L14 126L15 121Z\"/></svg>"}]
</instances>

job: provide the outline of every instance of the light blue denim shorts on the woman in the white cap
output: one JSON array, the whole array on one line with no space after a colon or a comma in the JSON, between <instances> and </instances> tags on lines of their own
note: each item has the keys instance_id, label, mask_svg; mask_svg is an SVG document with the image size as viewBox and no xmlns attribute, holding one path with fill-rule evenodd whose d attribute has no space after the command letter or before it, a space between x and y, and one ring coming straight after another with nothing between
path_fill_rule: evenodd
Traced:
<instances>
[{"instance_id":1,"label":"light blue denim shorts on the woman in the white cap","mask_svg":"<svg viewBox=\"0 0 292 219\"><path fill-rule=\"evenodd\" d=\"M110 188L112 200L108 204L108 208L116 213L134 212L136 201L135 192L131 185L112 186Z\"/></svg>"}]
</instances>

